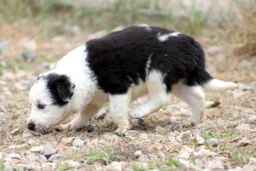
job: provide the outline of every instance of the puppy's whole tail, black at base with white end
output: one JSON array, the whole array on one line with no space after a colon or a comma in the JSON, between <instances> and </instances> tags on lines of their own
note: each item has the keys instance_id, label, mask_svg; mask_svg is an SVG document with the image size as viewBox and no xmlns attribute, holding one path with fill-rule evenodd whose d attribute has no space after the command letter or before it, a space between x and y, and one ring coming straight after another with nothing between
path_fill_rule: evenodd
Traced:
<instances>
[{"instance_id":1,"label":"puppy's whole tail, black at base with white end","mask_svg":"<svg viewBox=\"0 0 256 171\"><path fill-rule=\"evenodd\" d=\"M210 91L230 90L238 86L233 82L225 82L214 79L205 69L194 69L188 79L197 82L199 85ZM189 81L188 80L188 81Z\"/></svg>"}]
</instances>

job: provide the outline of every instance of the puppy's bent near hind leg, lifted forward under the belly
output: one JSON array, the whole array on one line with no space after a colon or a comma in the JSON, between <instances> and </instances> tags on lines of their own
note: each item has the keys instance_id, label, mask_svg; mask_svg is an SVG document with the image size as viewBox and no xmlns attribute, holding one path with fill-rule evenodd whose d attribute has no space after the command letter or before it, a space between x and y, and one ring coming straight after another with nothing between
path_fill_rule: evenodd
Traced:
<instances>
[{"instance_id":1,"label":"puppy's bent near hind leg, lifted forward under the belly","mask_svg":"<svg viewBox=\"0 0 256 171\"><path fill-rule=\"evenodd\" d=\"M167 92L161 72L150 72L146 84L149 99L131 111L130 116L132 118L141 118L154 111L157 111L167 104L171 99L171 94Z\"/></svg>"}]
</instances>

